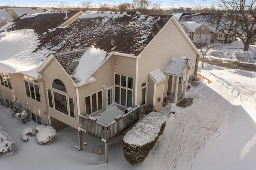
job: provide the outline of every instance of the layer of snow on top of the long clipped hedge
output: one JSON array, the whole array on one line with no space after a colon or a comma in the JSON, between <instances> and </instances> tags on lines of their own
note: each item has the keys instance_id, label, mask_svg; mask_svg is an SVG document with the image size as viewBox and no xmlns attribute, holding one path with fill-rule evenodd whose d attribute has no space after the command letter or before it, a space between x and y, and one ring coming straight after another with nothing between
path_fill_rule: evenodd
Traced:
<instances>
[{"instance_id":1,"label":"layer of snow on top of the long clipped hedge","mask_svg":"<svg viewBox=\"0 0 256 170\"><path fill-rule=\"evenodd\" d=\"M124 142L135 145L144 145L152 142L158 136L164 122L164 115L151 112L126 133Z\"/></svg>"}]
</instances>

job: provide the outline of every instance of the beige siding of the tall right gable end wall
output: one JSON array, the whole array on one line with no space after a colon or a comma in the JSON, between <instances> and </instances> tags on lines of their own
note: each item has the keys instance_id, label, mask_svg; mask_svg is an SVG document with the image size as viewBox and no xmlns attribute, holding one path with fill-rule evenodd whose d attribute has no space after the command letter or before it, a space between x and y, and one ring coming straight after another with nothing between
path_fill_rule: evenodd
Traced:
<instances>
[{"instance_id":1,"label":"beige siding of the tall right gable end wall","mask_svg":"<svg viewBox=\"0 0 256 170\"><path fill-rule=\"evenodd\" d=\"M138 86L148 79L148 73L160 69L163 73L172 57L186 56L192 63L194 75L196 64L196 51L180 32L172 20L159 32L141 53L138 63ZM138 88L137 103L140 103L141 88Z\"/></svg>"}]
</instances>

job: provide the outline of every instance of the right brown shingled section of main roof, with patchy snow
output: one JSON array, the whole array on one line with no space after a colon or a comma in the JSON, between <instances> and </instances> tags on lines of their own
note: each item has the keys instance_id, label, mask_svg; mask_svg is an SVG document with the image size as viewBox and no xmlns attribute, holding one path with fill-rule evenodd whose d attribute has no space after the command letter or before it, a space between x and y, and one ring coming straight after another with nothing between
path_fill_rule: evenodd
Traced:
<instances>
[{"instance_id":1,"label":"right brown shingled section of main roof, with patchy snow","mask_svg":"<svg viewBox=\"0 0 256 170\"><path fill-rule=\"evenodd\" d=\"M58 51L95 46L108 53L115 51L138 55L171 16L137 17L134 14L133 12L120 18L107 18L107 21L104 17L80 18L47 45L59 45ZM148 24L149 21L152 25Z\"/></svg>"}]
</instances>

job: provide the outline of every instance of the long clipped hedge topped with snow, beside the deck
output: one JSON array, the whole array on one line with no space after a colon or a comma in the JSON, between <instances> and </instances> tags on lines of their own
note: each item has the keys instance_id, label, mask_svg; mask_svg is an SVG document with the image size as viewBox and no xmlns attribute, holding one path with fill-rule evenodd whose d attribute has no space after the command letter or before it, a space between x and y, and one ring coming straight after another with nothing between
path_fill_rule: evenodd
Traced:
<instances>
[{"instance_id":1,"label":"long clipped hedge topped with snow, beside the deck","mask_svg":"<svg viewBox=\"0 0 256 170\"><path fill-rule=\"evenodd\" d=\"M151 112L143 118L143 121L129 130L123 142L126 160L132 165L143 162L163 133L165 125L164 115Z\"/></svg>"}]
</instances>

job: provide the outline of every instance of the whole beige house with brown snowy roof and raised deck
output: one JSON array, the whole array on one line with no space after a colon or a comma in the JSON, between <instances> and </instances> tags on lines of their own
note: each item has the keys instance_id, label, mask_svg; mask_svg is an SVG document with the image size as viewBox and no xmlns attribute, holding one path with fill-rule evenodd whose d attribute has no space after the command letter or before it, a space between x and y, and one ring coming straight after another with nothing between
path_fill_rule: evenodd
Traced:
<instances>
[{"instance_id":1,"label":"whole beige house with brown snowy roof and raised deck","mask_svg":"<svg viewBox=\"0 0 256 170\"><path fill-rule=\"evenodd\" d=\"M185 97L200 53L174 16L87 11L60 24L60 14L27 15L0 29L0 48L9 36L30 37L0 61L3 105L26 101L42 124L78 129L80 149L85 132L107 153L108 142L139 120L140 106L160 111L167 95L175 104ZM118 115L99 121L113 108Z\"/></svg>"}]
</instances>

